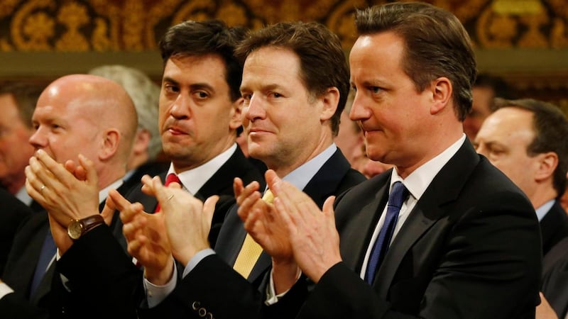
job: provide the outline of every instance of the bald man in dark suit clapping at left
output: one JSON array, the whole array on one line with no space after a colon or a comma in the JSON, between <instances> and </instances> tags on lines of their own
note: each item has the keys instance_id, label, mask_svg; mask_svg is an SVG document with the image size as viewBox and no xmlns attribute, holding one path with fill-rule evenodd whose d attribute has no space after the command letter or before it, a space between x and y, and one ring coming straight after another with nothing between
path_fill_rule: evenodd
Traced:
<instances>
[{"instance_id":1,"label":"bald man in dark suit clapping at left","mask_svg":"<svg viewBox=\"0 0 568 319\"><path fill-rule=\"evenodd\" d=\"M77 160L78 156L89 157L98 179L89 175L87 181L77 182L77 189L66 189L68 185L43 175L45 168L38 159L30 159L31 164L26 167L27 188L46 211L26 220L14 239L2 277L13 292L0 299L0 311L11 318L42 317L48 314L48 308L65 305L51 289L52 280L60 277L55 269L55 244L65 257L72 242L66 225L56 228L58 224L52 223L52 236L48 212L57 214L59 206L71 203L58 201L58 191L80 198L79 202L98 211L108 189L121 186L136 132L136 110L119 84L102 77L75 74L55 80L43 91L33 113L33 126L35 133L29 142L38 158L49 159L51 165L65 170L63 163ZM75 213L81 213L83 206L75 208L80 209ZM69 221L67 217L65 223Z\"/></svg>"}]
</instances>

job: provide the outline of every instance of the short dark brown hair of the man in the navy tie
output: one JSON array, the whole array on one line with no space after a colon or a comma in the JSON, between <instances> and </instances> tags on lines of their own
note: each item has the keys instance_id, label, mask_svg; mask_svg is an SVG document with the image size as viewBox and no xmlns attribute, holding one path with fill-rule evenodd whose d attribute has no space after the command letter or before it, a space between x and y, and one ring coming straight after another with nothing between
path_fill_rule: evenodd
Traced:
<instances>
[{"instance_id":1,"label":"short dark brown hair of the man in the navy tie","mask_svg":"<svg viewBox=\"0 0 568 319\"><path fill-rule=\"evenodd\" d=\"M394 2L356 11L359 35L391 31L405 43L402 65L417 91L447 77L453 86L454 111L464 121L471 110L476 60L471 40L454 14L431 4Z\"/></svg>"}]
</instances>

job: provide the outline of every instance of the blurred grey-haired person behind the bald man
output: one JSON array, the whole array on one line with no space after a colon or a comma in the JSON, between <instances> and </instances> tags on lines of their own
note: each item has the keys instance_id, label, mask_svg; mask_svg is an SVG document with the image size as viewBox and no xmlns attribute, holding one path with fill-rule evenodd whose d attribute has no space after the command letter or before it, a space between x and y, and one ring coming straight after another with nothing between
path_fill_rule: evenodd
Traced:
<instances>
[{"instance_id":1,"label":"blurred grey-haired person behind the bald man","mask_svg":"<svg viewBox=\"0 0 568 319\"><path fill-rule=\"evenodd\" d=\"M127 187L140 183L144 174L155 176L167 170L170 163L158 160L162 152L162 140L158 130L160 86L138 69L123 65L103 65L91 69L89 74L120 84L136 107L138 130L124 176Z\"/></svg>"}]
</instances>

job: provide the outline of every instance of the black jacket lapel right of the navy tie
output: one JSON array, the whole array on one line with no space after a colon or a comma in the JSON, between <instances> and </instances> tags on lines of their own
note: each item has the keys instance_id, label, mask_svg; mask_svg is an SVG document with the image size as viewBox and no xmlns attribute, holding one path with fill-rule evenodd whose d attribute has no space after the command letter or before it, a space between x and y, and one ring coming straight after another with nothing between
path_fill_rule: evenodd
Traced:
<instances>
[{"instance_id":1,"label":"black jacket lapel right of the navy tie","mask_svg":"<svg viewBox=\"0 0 568 319\"><path fill-rule=\"evenodd\" d=\"M451 209L451 205L447 203L455 201L459 196L478 163L479 155L466 140L432 180L403 227L400 228L378 270L374 286L379 296L386 298L396 269L405 254L439 218L447 215L448 210Z\"/></svg>"}]
</instances>

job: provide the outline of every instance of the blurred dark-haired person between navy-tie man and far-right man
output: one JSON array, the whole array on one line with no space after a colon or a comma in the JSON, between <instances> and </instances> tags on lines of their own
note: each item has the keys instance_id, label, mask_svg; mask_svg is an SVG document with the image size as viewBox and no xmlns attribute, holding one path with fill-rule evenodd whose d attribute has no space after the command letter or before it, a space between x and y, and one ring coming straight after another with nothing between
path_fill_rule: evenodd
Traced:
<instances>
[{"instance_id":1,"label":"blurred dark-haired person between navy-tie man and far-right man","mask_svg":"<svg viewBox=\"0 0 568 319\"><path fill-rule=\"evenodd\" d=\"M493 99L496 97L516 98L514 90L503 79L489 74L478 74L473 87L473 94L474 104L471 107L471 112L464 120L464 132L471 142L475 140L475 136L487 116L495 111Z\"/></svg>"}]
</instances>

